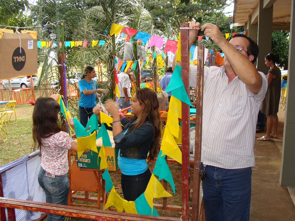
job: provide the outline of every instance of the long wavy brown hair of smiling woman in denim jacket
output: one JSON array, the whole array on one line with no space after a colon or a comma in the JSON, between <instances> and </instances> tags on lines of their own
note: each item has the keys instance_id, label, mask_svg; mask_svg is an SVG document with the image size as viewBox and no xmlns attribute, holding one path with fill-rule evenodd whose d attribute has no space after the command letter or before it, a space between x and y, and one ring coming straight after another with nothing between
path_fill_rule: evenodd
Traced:
<instances>
[{"instance_id":1,"label":"long wavy brown hair of smiling woman in denim jacket","mask_svg":"<svg viewBox=\"0 0 295 221\"><path fill-rule=\"evenodd\" d=\"M143 107L140 119L137 118L133 127L134 130L141 127L145 121L150 121L155 127L155 138L150 147L150 154L148 160L155 159L160 151L160 134L161 134L161 117L159 113L159 101L157 94L150 88L140 88L136 90L136 99ZM133 118L136 118L134 116Z\"/></svg>"}]
</instances>

